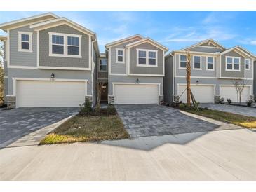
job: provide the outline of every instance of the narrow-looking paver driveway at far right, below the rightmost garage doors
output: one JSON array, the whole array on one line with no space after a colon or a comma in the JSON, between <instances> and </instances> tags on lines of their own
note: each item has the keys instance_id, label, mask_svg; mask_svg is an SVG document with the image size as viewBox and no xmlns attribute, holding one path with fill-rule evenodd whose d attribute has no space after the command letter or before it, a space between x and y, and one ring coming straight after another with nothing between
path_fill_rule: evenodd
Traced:
<instances>
[{"instance_id":1,"label":"narrow-looking paver driveway at far right, below the rightmost garage doors","mask_svg":"<svg viewBox=\"0 0 256 192\"><path fill-rule=\"evenodd\" d=\"M208 109L226 111L233 114L240 114L243 116L254 116L256 117L256 108L253 107L241 107L229 104L215 104L215 103L202 103L200 107L207 107Z\"/></svg>"}]
</instances>

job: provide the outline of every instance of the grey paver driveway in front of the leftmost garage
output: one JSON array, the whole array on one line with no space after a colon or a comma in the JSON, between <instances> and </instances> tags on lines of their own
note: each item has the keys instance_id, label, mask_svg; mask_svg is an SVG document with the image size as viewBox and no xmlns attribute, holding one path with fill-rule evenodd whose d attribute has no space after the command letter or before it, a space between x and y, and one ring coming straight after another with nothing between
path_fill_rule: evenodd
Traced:
<instances>
[{"instance_id":1,"label":"grey paver driveway in front of the leftmost garage","mask_svg":"<svg viewBox=\"0 0 256 192\"><path fill-rule=\"evenodd\" d=\"M72 114L77 107L18 108L0 111L0 148L15 142L30 132L39 130Z\"/></svg>"}]
</instances>

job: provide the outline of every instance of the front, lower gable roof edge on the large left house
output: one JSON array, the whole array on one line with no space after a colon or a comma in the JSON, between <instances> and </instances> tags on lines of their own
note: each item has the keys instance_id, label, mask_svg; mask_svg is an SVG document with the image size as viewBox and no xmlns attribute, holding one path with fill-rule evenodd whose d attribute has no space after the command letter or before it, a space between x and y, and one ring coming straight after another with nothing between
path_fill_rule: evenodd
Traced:
<instances>
[{"instance_id":1,"label":"front, lower gable roof edge on the large left house","mask_svg":"<svg viewBox=\"0 0 256 192\"><path fill-rule=\"evenodd\" d=\"M47 29L53 26L58 26L58 25L69 25L70 27L73 27L74 29L79 30L80 32L83 32L85 34L89 34L91 36L95 36L95 32L91 31L90 29L87 29L86 27L83 27L81 25L79 25L76 22L73 22L72 20L69 20L67 18L58 18L58 19L54 19L54 20L48 20L45 22L39 22L36 23L34 25L30 25L30 28L32 29Z\"/></svg>"}]
</instances>

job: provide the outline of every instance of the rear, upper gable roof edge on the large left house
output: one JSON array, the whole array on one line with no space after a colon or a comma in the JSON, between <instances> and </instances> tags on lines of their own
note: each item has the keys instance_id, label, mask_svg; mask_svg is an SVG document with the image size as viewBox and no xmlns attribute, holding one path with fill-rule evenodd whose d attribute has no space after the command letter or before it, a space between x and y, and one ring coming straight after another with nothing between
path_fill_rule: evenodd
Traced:
<instances>
[{"instance_id":1,"label":"rear, upper gable roof edge on the large left house","mask_svg":"<svg viewBox=\"0 0 256 192\"><path fill-rule=\"evenodd\" d=\"M11 22L4 22L0 24L0 29L3 29L6 31L7 29L11 29L13 27L19 27L20 25L25 25L33 22L40 22L40 20L53 20L59 18L58 15L55 15L53 13L43 13L40 15L34 15L29 18L22 18L20 20L14 20Z\"/></svg>"}]
</instances>

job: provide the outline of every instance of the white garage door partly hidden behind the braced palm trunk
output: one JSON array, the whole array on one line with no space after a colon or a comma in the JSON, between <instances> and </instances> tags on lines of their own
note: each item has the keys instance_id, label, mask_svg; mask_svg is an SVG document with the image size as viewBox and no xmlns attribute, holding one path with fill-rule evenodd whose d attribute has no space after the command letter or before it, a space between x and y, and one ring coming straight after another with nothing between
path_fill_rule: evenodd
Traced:
<instances>
[{"instance_id":1,"label":"white garage door partly hidden behind the braced palm trunk","mask_svg":"<svg viewBox=\"0 0 256 192\"><path fill-rule=\"evenodd\" d=\"M178 85L178 95L187 88L187 85ZM196 102L208 103L214 102L214 86L213 85L191 85L191 91ZM180 101L187 102L187 90L180 97Z\"/></svg>"}]
</instances>

